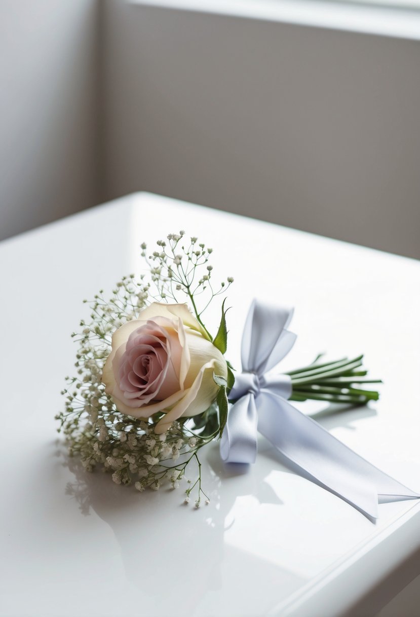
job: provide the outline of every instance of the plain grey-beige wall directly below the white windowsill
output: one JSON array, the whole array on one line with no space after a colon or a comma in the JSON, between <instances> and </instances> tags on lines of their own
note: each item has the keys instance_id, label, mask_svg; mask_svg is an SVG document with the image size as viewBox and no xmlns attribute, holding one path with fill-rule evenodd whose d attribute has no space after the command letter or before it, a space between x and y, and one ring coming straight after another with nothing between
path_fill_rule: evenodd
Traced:
<instances>
[{"instance_id":1,"label":"plain grey-beige wall directly below the white windowsill","mask_svg":"<svg viewBox=\"0 0 420 617\"><path fill-rule=\"evenodd\" d=\"M107 0L107 195L420 257L420 43Z\"/></svg>"}]
</instances>

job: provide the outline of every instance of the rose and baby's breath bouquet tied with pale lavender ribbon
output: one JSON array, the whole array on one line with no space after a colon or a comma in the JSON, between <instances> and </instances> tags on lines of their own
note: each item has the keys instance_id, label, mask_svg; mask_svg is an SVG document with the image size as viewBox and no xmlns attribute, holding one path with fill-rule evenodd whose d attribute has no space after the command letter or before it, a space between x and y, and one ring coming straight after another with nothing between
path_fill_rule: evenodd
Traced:
<instances>
[{"instance_id":1,"label":"rose and baby's breath bouquet tied with pale lavender ribbon","mask_svg":"<svg viewBox=\"0 0 420 617\"><path fill-rule=\"evenodd\" d=\"M362 387L380 381L368 378L363 356L334 362L318 356L309 366L270 377L296 336L287 329L291 311L256 300L244 332L242 371L235 371L225 358L225 293L233 278L215 283L212 249L184 231L158 241L155 251L147 252L145 243L141 249L148 275L123 276L109 300L99 291L90 303L91 320L82 320L81 331L71 335L79 345L77 375L67 378L65 409L56 416L69 454L78 455L86 471L100 466L116 484L134 484L140 492L157 491L165 482L178 487L195 460L198 477L188 481L183 499L189 503L194 491L196 508L202 500L209 503L200 450L215 439L226 462L255 460L257 429L302 468L308 464L296 459L296 447L289 452L297 433L316 442L328 461L336 459L330 442L339 442L288 401L378 400L376 390ZM216 300L220 323L211 333L205 313ZM322 473L307 471L339 492Z\"/></svg>"}]
</instances>

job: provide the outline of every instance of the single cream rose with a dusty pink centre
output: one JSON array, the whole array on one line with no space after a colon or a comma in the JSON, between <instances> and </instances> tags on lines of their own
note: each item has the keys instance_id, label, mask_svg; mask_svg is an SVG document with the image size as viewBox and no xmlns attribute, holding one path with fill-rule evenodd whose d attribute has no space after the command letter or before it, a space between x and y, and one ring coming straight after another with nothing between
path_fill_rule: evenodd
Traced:
<instances>
[{"instance_id":1,"label":"single cream rose with a dusty pink centre","mask_svg":"<svg viewBox=\"0 0 420 617\"><path fill-rule=\"evenodd\" d=\"M187 305L153 302L113 334L102 382L121 413L164 412L155 427L164 433L210 407L219 388L213 373L226 378L226 361Z\"/></svg>"}]
</instances>

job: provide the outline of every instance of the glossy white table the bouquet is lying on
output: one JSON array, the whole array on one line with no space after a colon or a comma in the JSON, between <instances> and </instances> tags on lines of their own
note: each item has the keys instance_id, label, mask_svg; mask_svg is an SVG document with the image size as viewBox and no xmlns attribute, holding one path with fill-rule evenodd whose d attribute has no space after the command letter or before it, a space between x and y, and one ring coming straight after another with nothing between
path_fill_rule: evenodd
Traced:
<instances>
[{"instance_id":1,"label":"glossy white table the bouquet is lying on","mask_svg":"<svg viewBox=\"0 0 420 617\"><path fill-rule=\"evenodd\" d=\"M211 503L116 486L70 462L55 433L81 304L143 268L139 244L184 228L232 275L228 357L240 366L253 296L296 307L287 370L365 352L384 379L369 408L318 416L331 433L420 491L420 265L150 194L134 194L0 245L0 613L17 616L372 615L420 573L420 502L378 523L291 473L267 442L248 473L204 455ZM208 321L219 318L214 302ZM313 411L313 410L312 410ZM191 474L192 475L192 474ZM352 608L353 607L353 608ZM354 608L357 607L357 608Z\"/></svg>"}]
</instances>

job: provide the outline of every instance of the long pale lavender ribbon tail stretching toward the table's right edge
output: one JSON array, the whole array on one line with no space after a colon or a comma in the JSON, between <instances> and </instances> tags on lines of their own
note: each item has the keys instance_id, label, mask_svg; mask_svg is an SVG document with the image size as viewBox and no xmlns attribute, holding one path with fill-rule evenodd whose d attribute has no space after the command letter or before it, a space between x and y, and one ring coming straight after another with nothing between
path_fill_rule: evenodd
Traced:
<instances>
[{"instance_id":1,"label":"long pale lavender ribbon tail stretching toward the table's right edge","mask_svg":"<svg viewBox=\"0 0 420 617\"><path fill-rule=\"evenodd\" d=\"M378 518L379 495L394 497L394 500L420 497L278 395L262 389L257 397L257 408L259 432L296 465L301 474L341 497L368 518Z\"/></svg>"}]
</instances>

